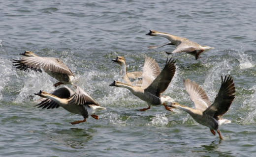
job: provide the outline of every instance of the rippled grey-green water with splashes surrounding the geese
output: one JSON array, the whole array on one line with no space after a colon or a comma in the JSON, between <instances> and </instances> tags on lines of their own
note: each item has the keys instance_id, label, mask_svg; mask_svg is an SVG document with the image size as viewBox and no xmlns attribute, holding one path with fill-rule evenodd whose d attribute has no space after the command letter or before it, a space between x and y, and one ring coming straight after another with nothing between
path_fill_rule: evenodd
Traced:
<instances>
[{"instance_id":1,"label":"rippled grey-green water with splashes surrounding the geese","mask_svg":"<svg viewBox=\"0 0 256 157\"><path fill-rule=\"evenodd\" d=\"M8 0L0 2L0 156L10 157L251 157L256 155L256 2L216 0ZM199 83L213 102L221 75L230 74L236 98L221 127L224 140L187 113L147 104L127 89L111 62L125 56L128 71L140 71L144 56L163 68L165 51L147 47L167 43L146 36L149 29L215 47L202 60L173 54L176 74L164 92L183 105L192 102L183 78ZM80 86L106 111L99 120L81 120L63 108L38 109L33 93L51 92L57 81L45 73L12 66L24 51L58 57L76 74Z\"/></svg>"}]
</instances>

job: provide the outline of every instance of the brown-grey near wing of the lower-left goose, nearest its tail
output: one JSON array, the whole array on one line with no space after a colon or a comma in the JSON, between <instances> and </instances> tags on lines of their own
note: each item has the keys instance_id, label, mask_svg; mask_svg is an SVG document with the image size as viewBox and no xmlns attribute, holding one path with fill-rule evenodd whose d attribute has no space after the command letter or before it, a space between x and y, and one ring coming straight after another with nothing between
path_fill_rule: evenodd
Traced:
<instances>
[{"instance_id":1,"label":"brown-grey near wing of the lower-left goose, nearest its tail","mask_svg":"<svg viewBox=\"0 0 256 157\"><path fill-rule=\"evenodd\" d=\"M98 106L98 103L96 103L96 101L79 86L76 86L75 93L70 96L68 103L76 104L76 105L97 105Z\"/></svg>"}]
</instances>

